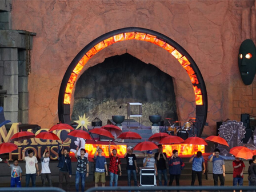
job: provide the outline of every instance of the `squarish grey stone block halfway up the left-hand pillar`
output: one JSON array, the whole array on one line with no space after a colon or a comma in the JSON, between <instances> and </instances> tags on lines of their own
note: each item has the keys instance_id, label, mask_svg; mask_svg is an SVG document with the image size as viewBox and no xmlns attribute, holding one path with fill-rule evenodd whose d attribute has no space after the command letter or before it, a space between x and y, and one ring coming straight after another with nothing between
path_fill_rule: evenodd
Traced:
<instances>
[{"instance_id":1,"label":"squarish grey stone block halfway up the left-hand pillar","mask_svg":"<svg viewBox=\"0 0 256 192\"><path fill-rule=\"evenodd\" d=\"M3 75L3 89L9 95L18 95L18 75Z\"/></svg>"}]
</instances>

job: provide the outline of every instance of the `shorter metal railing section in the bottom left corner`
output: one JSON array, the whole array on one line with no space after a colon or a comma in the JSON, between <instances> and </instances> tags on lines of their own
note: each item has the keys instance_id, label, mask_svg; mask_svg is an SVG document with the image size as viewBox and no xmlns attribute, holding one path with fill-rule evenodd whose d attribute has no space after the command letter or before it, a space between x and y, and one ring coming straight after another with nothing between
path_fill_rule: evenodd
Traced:
<instances>
[{"instance_id":1,"label":"shorter metal railing section in the bottom left corner","mask_svg":"<svg viewBox=\"0 0 256 192\"><path fill-rule=\"evenodd\" d=\"M47 191L47 192L66 192L58 187L0 187L0 191Z\"/></svg>"}]
</instances>

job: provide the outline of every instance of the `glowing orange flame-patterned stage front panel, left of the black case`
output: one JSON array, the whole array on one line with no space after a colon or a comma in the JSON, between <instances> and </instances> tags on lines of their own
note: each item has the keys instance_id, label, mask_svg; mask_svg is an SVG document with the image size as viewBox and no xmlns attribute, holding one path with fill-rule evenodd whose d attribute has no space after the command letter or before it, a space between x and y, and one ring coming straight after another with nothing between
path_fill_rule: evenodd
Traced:
<instances>
[{"instance_id":1,"label":"glowing orange flame-patterned stage front panel, left of the black case","mask_svg":"<svg viewBox=\"0 0 256 192\"><path fill-rule=\"evenodd\" d=\"M89 154L89 157L94 156L97 146L101 147L103 156L109 157L109 145L95 145L85 143L85 150ZM117 149L117 156L123 158L127 151L127 145L110 145L111 152L113 149Z\"/></svg>"}]
</instances>

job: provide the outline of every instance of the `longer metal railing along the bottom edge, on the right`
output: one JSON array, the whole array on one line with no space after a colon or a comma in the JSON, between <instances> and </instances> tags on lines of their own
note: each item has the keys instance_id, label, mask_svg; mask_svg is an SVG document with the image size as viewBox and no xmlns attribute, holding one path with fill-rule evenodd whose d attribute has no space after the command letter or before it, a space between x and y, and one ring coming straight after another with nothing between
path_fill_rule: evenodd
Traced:
<instances>
[{"instance_id":1,"label":"longer metal railing along the bottom edge, on the right","mask_svg":"<svg viewBox=\"0 0 256 192\"><path fill-rule=\"evenodd\" d=\"M91 187L86 192L93 191L255 191L255 186L117 186L117 187Z\"/></svg>"}]
</instances>

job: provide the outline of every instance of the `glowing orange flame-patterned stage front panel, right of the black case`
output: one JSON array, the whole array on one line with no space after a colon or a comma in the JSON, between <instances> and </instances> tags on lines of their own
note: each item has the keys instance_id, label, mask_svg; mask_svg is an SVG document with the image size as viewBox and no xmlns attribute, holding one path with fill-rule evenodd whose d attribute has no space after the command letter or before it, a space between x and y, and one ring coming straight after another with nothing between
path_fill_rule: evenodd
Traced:
<instances>
[{"instance_id":1,"label":"glowing orange flame-patterned stage front panel, right of the black case","mask_svg":"<svg viewBox=\"0 0 256 192\"><path fill-rule=\"evenodd\" d=\"M190 145L190 144L174 144L174 145L162 145L163 152L166 153L167 157L173 154L173 150L178 150L179 155L193 155L197 151L205 153L205 145Z\"/></svg>"}]
</instances>

